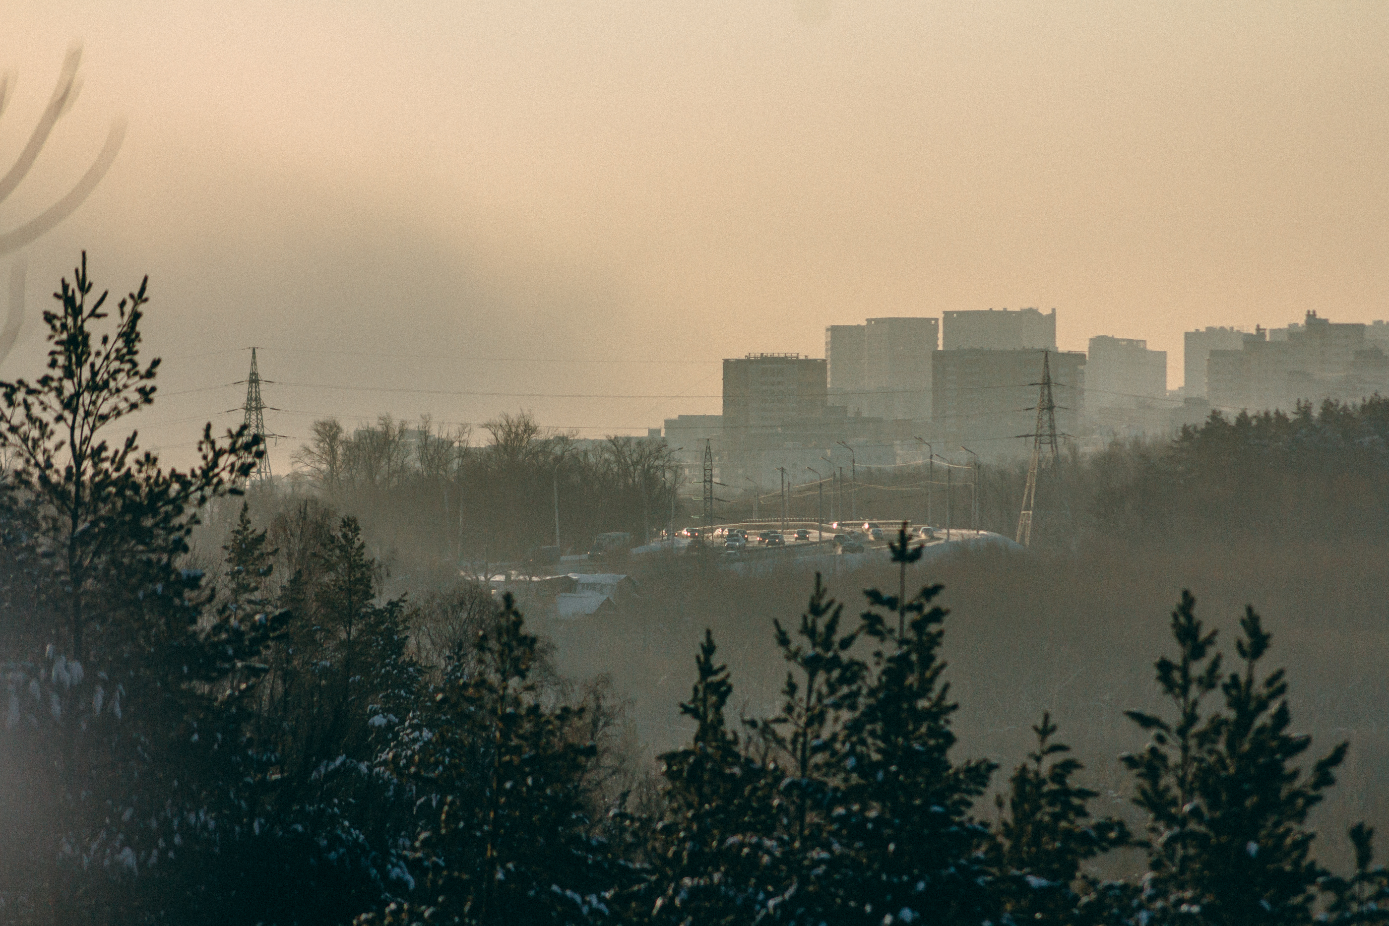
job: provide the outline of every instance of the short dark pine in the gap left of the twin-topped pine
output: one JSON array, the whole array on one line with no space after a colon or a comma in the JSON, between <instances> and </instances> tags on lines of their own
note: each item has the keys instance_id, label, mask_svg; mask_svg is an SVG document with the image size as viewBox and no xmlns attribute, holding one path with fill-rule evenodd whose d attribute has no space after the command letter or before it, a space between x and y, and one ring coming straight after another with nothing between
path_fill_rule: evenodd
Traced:
<instances>
[{"instance_id":1,"label":"short dark pine in the gap left of the twin-topped pine","mask_svg":"<svg viewBox=\"0 0 1389 926\"><path fill-rule=\"evenodd\" d=\"M992 868L1001 908L1015 922L1039 926L1089 922L1099 884L1082 864L1129 841L1122 820L1090 818L1096 791L1071 779L1083 766L1071 747L1054 743L1050 714L1032 727L1038 750L1010 779L1008 798L997 797L1000 812ZM1088 904L1086 904L1088 901ZM1082 904L1088 909L1082 909Z\"/></svg>"}]
</instances>

